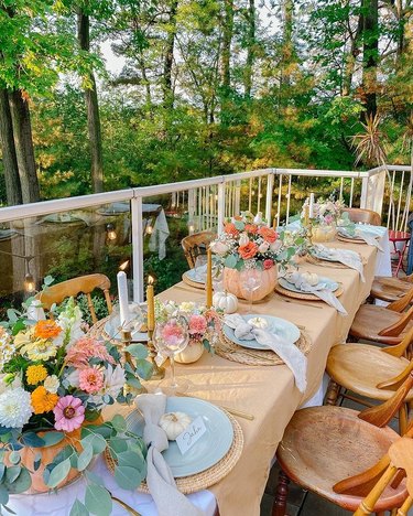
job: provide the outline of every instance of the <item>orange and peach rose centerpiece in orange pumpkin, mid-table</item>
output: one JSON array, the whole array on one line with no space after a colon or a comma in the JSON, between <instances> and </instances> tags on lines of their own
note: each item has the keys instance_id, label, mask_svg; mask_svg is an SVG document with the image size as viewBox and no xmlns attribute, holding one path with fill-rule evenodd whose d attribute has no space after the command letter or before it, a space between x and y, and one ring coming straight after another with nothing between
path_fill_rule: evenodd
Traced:
<instances>
[{"instance_id":1,"label":"orange and peach rose centerpiece in orange pumpkin, mid-table","mask_svg":"<svg viewBox=\"0 0 413 516\"><path fill-rule=\"evenodd\" d=\"M272 292L276 282L276 262L285 265L295 255L295 247L283 244L283 235L267 225L261 214L242 212L227 218L224 232L211 243L211 250L221 260L224 287L238 298L249 298L242 286L240 272L260 270L260 287L252 292L252 300L263 299Z\"/></svg>"}]
</instances>

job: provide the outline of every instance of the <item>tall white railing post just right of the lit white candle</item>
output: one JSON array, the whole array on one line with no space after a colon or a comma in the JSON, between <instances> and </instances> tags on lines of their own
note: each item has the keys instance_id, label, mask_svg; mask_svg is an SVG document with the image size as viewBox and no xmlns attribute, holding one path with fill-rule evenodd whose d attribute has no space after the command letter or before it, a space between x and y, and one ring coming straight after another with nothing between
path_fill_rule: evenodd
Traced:
<instances>
[{"instance_id":1,"label":"tall white railing post just right of the lit white candle","mask_svg":"<svg viewBox=\"0 0 413 516\"><path fill-rule=\"evenodd\" d=\"M133 301L143 302L143 221L142 197L131 198Z\"/></svg>"}]
</instances>

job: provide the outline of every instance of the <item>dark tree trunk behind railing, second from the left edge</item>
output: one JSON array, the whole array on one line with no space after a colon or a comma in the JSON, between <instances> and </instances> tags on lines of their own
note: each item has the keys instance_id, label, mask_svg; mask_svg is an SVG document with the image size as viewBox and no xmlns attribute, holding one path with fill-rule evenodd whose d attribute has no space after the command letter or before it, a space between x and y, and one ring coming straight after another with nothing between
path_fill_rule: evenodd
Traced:
<instances>
[{"instance_id":1,"label":"dark tree trunk behind railing, second from the left edge","mask_svg":"<svg viewBox=\"0 0 413 516\"><path fill-rule=\"evenodd\" d=\"M40 189L34 161L32 123L28 101L21 89L9 92L9 105L13 126L14 149L19 166L23 203L40 201Z\"/></svg>"}]
</instances>

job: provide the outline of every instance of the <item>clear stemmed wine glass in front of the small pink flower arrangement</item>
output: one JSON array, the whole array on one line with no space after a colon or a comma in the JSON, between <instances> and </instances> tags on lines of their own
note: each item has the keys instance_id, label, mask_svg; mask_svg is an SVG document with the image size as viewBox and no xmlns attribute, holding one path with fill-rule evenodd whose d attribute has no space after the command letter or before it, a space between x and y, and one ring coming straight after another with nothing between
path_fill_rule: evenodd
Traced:
<instances>
[{"instance_id":1,"label":"clear stemmed wine glass in front of the small pink flower arrangement","mask_svg":"<svg viewBox=\"0 0 413 516\"><path fill-rule=\"evenodd\" d=\"M188 383L184 379L176 379L174 357L185 350L189 342L189 329L187 320L177 314L166 322L157 323L153 334L154 346L162 356L170 358L171 378L162 380L160 387L169 396L176 393L185 393L188 389Z\"/></svg>"}]
</instances>

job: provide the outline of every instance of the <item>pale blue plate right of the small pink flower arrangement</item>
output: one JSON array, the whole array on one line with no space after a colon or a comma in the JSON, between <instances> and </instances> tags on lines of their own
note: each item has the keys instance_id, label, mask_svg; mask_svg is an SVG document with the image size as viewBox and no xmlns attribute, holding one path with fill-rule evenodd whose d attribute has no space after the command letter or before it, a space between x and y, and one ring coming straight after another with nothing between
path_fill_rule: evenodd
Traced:
<instances>
[{"instance_id":1,"label":"pale blue plate right of the small pink flower arrangement","mask_svg":"<svg viewBox=\"0 0 413 516\"><path fill-rule=\"evenodd\" d=\"M268 325L267 327L263 327L262 330L265 330L269 333L279 335L282 338L285 338L285 341L291 342L292 344L300 338L301 333L300 333L298 327L295 324L291 323L290 321L285 321L285 319L274 318L272 315L257 315L257 313L242 315L242 318L247 322L249 322L251 319L254 319L254 318L260 318L260 319L265 320ZM262 351L271 350L271 347L269 346L259 344L256 340L241 341L237 338L235 335L235 331L231 327L227 326L227 324L224 324L222 331L226 337L228 337L231 342L235 342L239 346L249 347L250 350L262 350Z\"/></svg>"}]
</instances>

